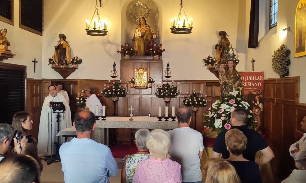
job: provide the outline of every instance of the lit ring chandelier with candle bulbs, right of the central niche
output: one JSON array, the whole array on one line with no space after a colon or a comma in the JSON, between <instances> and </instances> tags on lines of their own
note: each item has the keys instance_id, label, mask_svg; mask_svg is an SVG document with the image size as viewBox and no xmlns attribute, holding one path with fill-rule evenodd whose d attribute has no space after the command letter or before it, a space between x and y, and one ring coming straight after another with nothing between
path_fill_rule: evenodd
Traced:
<instances>
[{"instance_id":1,"label":"lit ring chandelier with candle bulbs, right of the central niche","mask_svg":"<svg viewBox=\"0 0 306 183\"><path fill-rule=\"evenodd\" d=\"M192 18L190 18L190 22L186 16L185 10L183 8L183 0L181 0L181 9L180 12L178 13L177 18L174 17L174 20L170 20L170 29L171 29L171 33L173 34L190 34L191 30L192 30ZM185 16L183 17L183 21L181 21L181 12L183 12L185 14ZM187 21L187 22L186 22ZM186 26L187 23L187 26Z\"/></svg>"}]
</instances>

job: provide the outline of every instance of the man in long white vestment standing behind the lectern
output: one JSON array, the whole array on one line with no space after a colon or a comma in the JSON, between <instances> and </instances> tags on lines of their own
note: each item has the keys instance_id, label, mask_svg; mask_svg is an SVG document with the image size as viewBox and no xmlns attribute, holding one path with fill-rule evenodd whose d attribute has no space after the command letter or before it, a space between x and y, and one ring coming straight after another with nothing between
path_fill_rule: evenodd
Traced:
<instances>
[{"instance_id":1,"label":"man in long white vestment standing behind the lectern","mask_svg":"<svg viewBox=\"0 0 306 183\"><path fill-rule=\"evenodd\" d=\"M63 102L66 110L60 113L62 116L59 122L59 130L71 127L71 113L70 107L63 95L56 93L56 89L53 85L49 86L49 95L45 97L43 102L43 108L41 109L39 133L38 133L38 153L46 153L46 156L51 155L51 145L57 142L57 129L58 125L55 116L57 113L52 113L50 102ZM51 120L52 120L52 143L51 144ZM60 137L60 144L64 143L65 139ZM56 152L56 147L53 146L53 153Z\"/></svg>"}]
</instances>

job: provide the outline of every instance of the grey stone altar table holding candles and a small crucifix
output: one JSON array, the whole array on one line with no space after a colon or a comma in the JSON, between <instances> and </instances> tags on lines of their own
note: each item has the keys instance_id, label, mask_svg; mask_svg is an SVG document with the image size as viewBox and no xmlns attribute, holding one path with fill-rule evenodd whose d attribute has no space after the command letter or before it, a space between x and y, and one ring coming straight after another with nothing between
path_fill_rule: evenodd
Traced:
<instances>
[{"instance_id":1,"label":"grey stone altar table holding candles and a small crucifix","mask_svg":"<svg viewBox=\"0 0 306 183\"><path fill-rule=\"evenodd\" d=\"M101 144L108 145L108 128L146 128L146 129L174 129L178 127L178 121L157 121L156 117L106 117L106 120L96 120L92 139ZM58 135L76 135L74 127L66 128L58 132Z\"/></svg>"}]
</instances>

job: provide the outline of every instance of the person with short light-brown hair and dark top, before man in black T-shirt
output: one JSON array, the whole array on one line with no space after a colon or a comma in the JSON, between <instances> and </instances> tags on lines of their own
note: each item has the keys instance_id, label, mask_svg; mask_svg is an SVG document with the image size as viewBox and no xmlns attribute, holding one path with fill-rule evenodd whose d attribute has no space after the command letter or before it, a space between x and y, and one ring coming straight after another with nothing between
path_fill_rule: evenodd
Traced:
<instances>
[{"instance_id":1,"label":"person with short light-brown hair and dark top, before man in black T-shirt","mask_svg":"<svg viewBox=\"0 0 306 183\"><path fill-rule=\"evenodd\" d=\"M238 129L230 129L225 134L225 144L230 152L226 159L236 169L242 183L260 183L259 166L254 161L249 161L242 156L247 145L247 137Z\"/></svg>"}]
</instances>

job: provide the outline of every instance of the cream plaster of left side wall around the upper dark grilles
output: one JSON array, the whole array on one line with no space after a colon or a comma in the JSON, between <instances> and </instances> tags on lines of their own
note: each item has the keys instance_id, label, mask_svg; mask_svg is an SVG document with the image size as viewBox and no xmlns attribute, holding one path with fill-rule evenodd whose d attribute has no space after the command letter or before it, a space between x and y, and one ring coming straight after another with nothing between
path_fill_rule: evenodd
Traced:
<instances>
[{"instance_id":1,"label":"cream plaster of left side wall around the upper dark grilles","mask_svg":"<svg viewBox=\"0 0 306 183\"><path fill-rule=\"evenodd\" d=\"M33 34L27 30L19 28L19 0L14 0L14 25L0 21L0 29L6 28L6 38L11 42L9 50L16 54L14 58L3 60L4 63L12 63L27 66L28 78L41 78L42 76L42 36ZM34 73L34 63L36 58L36 72ZM45 62L44 62L45 63Z\"/></svg>"}]
</instances>

